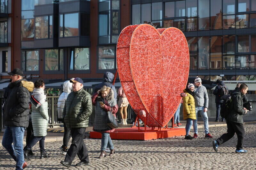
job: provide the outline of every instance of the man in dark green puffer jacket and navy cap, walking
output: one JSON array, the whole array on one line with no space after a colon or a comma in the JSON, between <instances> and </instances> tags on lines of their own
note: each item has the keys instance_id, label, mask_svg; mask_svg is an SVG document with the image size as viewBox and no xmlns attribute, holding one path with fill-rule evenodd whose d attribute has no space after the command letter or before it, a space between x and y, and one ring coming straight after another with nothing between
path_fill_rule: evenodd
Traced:
<instances>
[{"instance_id":1,"label":"man in dark green puffer jacket and navy cap, walking","mask_svg":"<svg viewBox=\"0 0 256 170\"><path fill-rule=\"evenodd\" d=\"M89 116L92 114L91 95L84 90L84 82L81 78L70 80L73 92L69 93L63 108L63 120L66 126L70 128L72 142L65 160L60 163L66 167L70 167L72 161L78 155L81 162L76 166L89 165L89 156L87 148L84 144L84 133L88 127Z\"/></svg>"}]
</instances>

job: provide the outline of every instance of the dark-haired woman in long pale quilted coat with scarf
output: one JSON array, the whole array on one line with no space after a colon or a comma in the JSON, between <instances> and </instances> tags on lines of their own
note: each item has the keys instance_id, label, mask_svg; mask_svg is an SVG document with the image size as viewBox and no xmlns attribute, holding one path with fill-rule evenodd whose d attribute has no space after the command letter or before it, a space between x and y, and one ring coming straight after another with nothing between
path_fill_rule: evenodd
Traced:
<instances>
[{"instance_id":1,"label":"dark-haired woman in long pale quilted coat with scarf","mask_svg":"<svg viewBox=\"0 0 256 170\"><path fill-rule=\"evenodd\" d=\"M30 98L32 109L32 126L34 134L31 136L30 141L24 148L24 158L28 158L28 152L39 141L40 146L40 159L43 157L48 158L44 150L44 139L46 136L48 126L48 103L46 101L46 95L44 94L44 80L36 80L35 89L33 90Z\"/></svg>"}]
</instances>

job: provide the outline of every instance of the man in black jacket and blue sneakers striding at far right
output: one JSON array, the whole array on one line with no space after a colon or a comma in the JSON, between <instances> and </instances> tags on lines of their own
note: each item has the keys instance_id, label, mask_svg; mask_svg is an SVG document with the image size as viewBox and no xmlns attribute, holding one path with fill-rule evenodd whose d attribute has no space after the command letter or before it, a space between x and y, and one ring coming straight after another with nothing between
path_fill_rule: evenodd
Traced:
<instances>
[{"instance_id":1,"label":"man in black jacket and blue sneakers striding at far right","mask_svg":"<svg viewBox=\"0 0 256 170\"><path fill-rule=\"evenodd\" d=\"M218 151L220 144L227 142L231 139L235 133L237 135L236 153L246 153L243 149L242 144L244 141L244 121L243 115L247 113L246 108L243 107L243 97L247 93L248 86L241 84L239 89L233 92L231 96L230 112L226 118L228 133L223 134L217 140L212 141L214 151Z\"/></svg>"}]
</instances>

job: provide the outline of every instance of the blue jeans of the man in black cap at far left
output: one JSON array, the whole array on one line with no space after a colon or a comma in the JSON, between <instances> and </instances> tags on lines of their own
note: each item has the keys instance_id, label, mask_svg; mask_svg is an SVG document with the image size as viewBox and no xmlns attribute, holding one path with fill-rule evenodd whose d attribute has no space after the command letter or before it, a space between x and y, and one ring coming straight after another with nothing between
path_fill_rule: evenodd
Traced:
<instances>
[{"instance_id":1,"label":"blue jeans of the man in black cap at far left","mask_svg":"<svg viewBox=\"0 0 256 170\"><path fill-rule=\"evenodd\" d=\"M16 170L23 169L24 154L23 154L23 137L25 128L16 126L6 126L2 145L9 152L12 158L16 161ZM13 143L13 145L12 145Z\"/></svg>"}]
</instances>

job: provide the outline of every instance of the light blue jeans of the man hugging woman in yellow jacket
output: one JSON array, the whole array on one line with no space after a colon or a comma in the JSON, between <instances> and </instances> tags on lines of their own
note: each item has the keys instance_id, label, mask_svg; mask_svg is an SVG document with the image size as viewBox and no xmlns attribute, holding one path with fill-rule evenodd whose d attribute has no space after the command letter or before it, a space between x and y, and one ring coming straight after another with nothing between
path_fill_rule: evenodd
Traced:
<instances>
[{"instance_id":1,"label":"light blue jeans of the man hugging woman in yellow jacket","mask_svg":"<svg viewBox=\"0 0 256 170\"><path fill-rule=\"evenodd\" d=\"M204 121L204 133L208 134L209 133L209 128L208 128L208 116L207 113L204 112L204 107L198 107L196 106L196 119L193 120L193 128L194 128L194 133L197 134L197 114L200 113L200 115L203 118Z\"/></svg>"}]
</instances>

